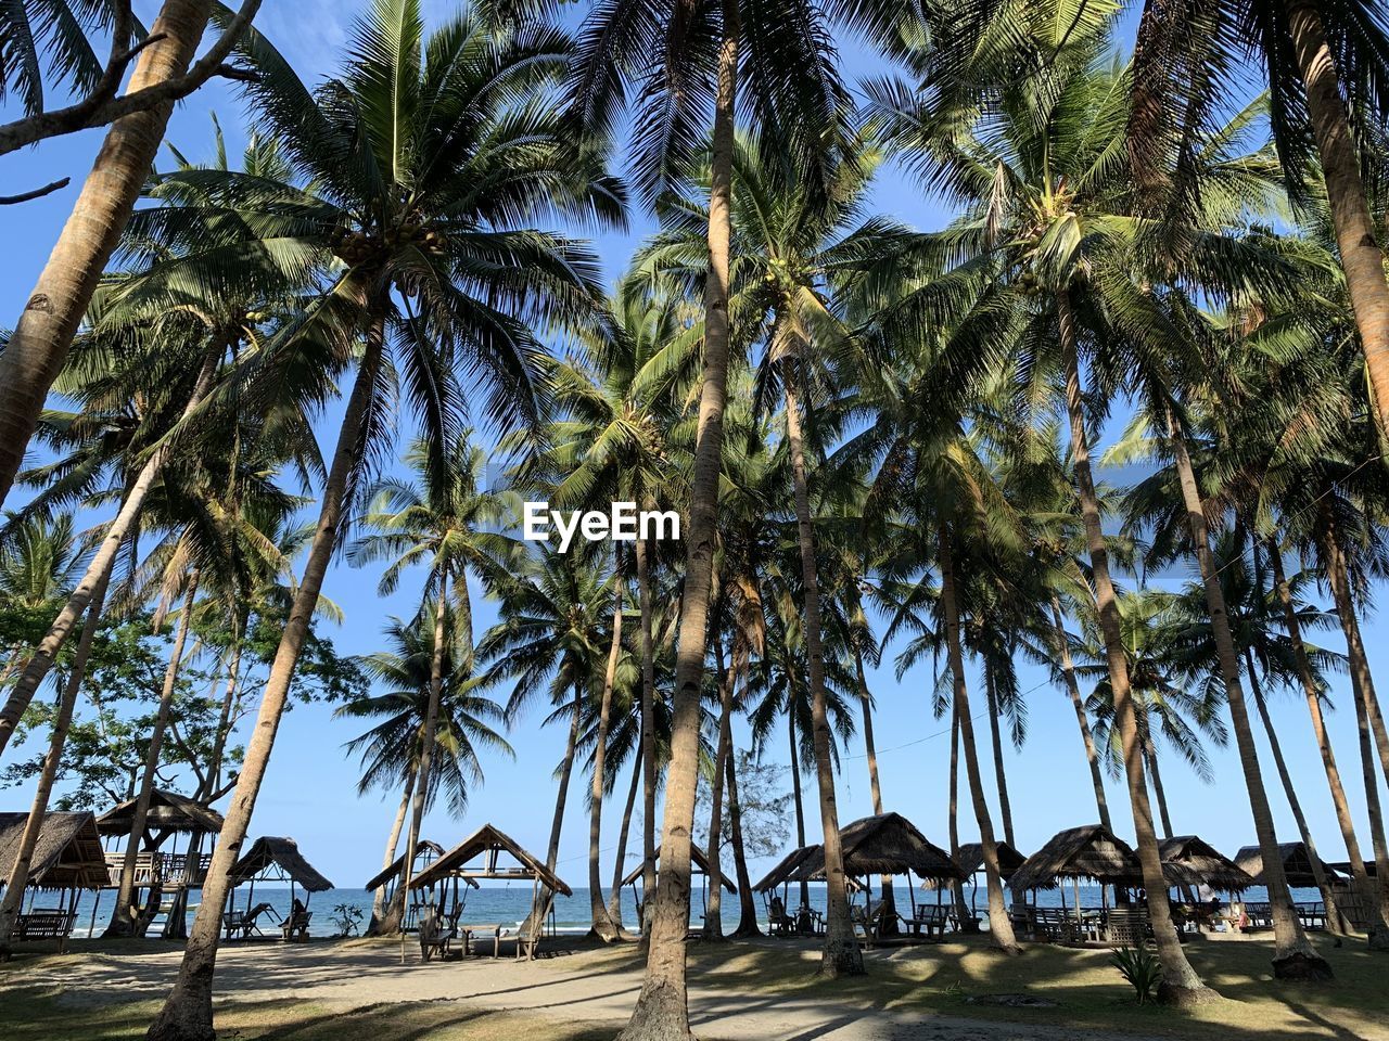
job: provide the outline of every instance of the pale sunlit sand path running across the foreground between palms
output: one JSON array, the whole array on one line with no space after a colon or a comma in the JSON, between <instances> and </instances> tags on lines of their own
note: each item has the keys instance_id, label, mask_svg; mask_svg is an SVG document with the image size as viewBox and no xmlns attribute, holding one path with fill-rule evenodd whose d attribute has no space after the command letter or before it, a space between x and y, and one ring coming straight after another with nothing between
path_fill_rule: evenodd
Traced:
<instances>
[{"instance_id":1,"label":"pale sunlit sand path running across the foreground between palms","mask_svg":"<svg viewBox=\"0 0 1389 1041\"><path fill-rule=\"evenodd\" d=\"M814 954L806 956L813 959ZM179 958L179 951L168 949L135 956L90 954L81 959L47 959L25 972L22 983L61 987L63 999L74 1004L157 999L168 992ZM0 992L4 983L0 977ZM228 945L217 959L219 999L240 1004L292 994L342 1010L379 1002L449 1001L463 1008L619 1026L631 1013L640 985L640 973L631 967L631 960L614 959L611 954L561 955L532 963L503 956L425 965L418 949L411 949L401 965L393 945L349 942ZM706 988L697 979L692 980L690 1016L697 1034L728 1041L1115 1041L1120 1037L1135 1041L1132 1034L904 1013L849 999L826 1004L738 992L724 981L718 988Z\"/></svg>"}]
</instances>

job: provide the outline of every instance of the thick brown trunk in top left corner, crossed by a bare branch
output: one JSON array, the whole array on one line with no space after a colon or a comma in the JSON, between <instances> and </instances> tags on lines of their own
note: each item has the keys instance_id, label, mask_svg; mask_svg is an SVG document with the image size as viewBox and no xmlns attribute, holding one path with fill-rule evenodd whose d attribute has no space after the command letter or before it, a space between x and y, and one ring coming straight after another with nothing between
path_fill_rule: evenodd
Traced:
<instances>
[{"instance_id":1,"label":"thick brown trunk in top left corner, crossed by a bare branch","mask_svg":"<svg viewBox=\"0 0 1389 1041\"><path fill-rule=\"evenodd\" d=\"M150 26L156 42L140 51L126 92L188 71L211 11L210 0L165 0ZM0 353L0 502L10 494L49 387L131 219L172 111L174 101L165 101L107 129L82 194Z\"/></svg>"}]
</instances>

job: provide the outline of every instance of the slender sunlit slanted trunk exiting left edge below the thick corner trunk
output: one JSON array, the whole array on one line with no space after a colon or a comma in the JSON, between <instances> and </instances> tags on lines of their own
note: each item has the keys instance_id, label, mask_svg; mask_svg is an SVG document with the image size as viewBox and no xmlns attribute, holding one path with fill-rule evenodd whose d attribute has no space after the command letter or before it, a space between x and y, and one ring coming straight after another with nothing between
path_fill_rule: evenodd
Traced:
<instances>
[{"instance_id":1,"label":"slender sunlit slanted trunk exiting left edge below the thick corner trunk","mask_svg":"<svg viewBox=\"0 0 1389 1041\"><path fill-rule=\"evenodd\" d=\"M11 340L11 344L13 343L14 341ZM10 350L7 348L3 354L0 354L0 358L6 358ZM217 373L217 364L221 357L221 344L208 351L203 361L203 369L199 372L193 393L189 397L188 404L183 407L183 416L188 416L194 408L197 408L197 404L213 386L213 376ZM0 383L0 386L4 384ZM119 552L121 544L131 533L136 518L140 515L140 508L144 505L144 497L154 486L154 480L158 477L160 469L164 466L164 461L168 458L169 451L171 446L165 441L150 452L150 458L144 461L139 475L125 493L121 509L117 512L111 525L106 529L106 537L101 540L101 545L92 557L86 575L82 576L82 580L68 597L67 604L63 605L63 611L60 611L57 619L54 619L53 626L50 626L47 634L44 634L43 640L39 641L39 645L33 650L29 663L25 666L24 673L19 676L19 682L15 683L14 691L10 694L10 700L6 702L4 709L0 709L0 755L4 755L6 745L10 744L10 737L14 734L14 729L18 726L19 718L24 715L25 709L29 708L33 691L39 688L39 683L43 682L49 669L53 668L53 661L57 658L58 650L67 643L68 636L72 633L72 627L86 611L88 604L92 600L92 590L96 586L99 576L115 559L115 554Z\"/></svg>"}]
</instances>

